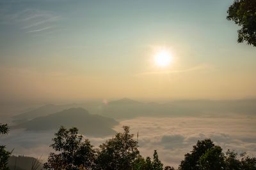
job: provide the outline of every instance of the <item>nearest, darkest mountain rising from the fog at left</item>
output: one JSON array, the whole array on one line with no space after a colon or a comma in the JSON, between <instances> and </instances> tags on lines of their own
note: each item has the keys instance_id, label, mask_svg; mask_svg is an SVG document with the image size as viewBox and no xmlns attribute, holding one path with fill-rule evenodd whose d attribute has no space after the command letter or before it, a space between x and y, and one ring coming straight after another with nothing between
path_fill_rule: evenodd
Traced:
<instances>
[{"instance_id":1,"label":"nearest, darkest mountain rising from the fog at left","mask_svg":"<svg viewBox=\"0 0 256 170\"><path fill-rule=\"evenodd\" d=\"M117 125L113 118L92 115L83 108L70 108L45 117L37 117L12 128L24 128L26 131L57 131L63 125L67 128L77 127L79 132L88 136L102 137L115 134L112 127Z\"/></svg>"}]
</instances>

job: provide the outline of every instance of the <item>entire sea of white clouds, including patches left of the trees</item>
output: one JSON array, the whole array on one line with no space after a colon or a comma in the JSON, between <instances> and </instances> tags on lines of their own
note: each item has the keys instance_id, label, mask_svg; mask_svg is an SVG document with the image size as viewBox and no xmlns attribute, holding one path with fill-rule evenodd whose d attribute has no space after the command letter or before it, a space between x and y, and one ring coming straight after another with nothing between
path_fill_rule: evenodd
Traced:
<instances>
[{"instance_id":1,"label":"entire sea of white clouds, including patches left of the trees","mask_svg":"<svg viewBox=\"0 0 256 170\"><path fill-rule=\"evenodd\" d=\"M191 151L198 139L211 138L223 151L227 149L246 152L256 156L256 118L255 117L139 117L122 120L114 127L122 132L122 126L131 127L134 139L139 134L139 150L144 157L150 156L154 150L164 165L178 167L184 154ZM57 131L57 130L56 130ZM10 131L8 136L0 139L1 144L13 149L15 155L28 155L47 159L51 152L51 132L28 132L22 129ZM86 136L94 146L99 146L108 138L92 138Z\"/></svg>"}]
</instances>

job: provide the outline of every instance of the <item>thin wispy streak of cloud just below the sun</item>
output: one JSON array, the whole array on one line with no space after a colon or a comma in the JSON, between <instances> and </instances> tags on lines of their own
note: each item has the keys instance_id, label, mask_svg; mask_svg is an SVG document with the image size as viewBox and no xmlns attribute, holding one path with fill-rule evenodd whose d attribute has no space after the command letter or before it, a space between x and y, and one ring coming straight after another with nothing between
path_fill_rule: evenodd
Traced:
<instances>
[{"instance_id":1,"label":"thin wispy streak of cloud just below the sun","mask_svg":"<svg viewBox=\"0 0 256 170\"><path fill-rule=\"evenodd\" d=\"M188 69L181 69L181 70L166 70L166 71L149 71L149 72L143 72L138 73L137 75L148 75L148 74L170 74L170 73L184 73L184 72L190 72L190 71L198 71L198 70L204 70L204 69L213 69L213 66L210 66L208 64L200 64L195 67L190 67Z\"/></svg>"}]
</instances>

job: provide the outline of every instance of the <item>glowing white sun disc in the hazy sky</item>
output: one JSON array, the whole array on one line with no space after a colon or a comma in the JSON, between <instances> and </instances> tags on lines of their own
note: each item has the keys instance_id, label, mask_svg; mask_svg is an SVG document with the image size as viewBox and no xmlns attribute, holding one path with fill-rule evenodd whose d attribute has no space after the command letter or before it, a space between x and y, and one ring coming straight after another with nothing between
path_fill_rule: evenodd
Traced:
<instances>
[{"instance_id":1,"label":"glowing white sun disc in the hazy sky","mask_svg":"<svg viewBox=\"0 0 256 170\"><path fill-rule=\"evenodd\" d=\"M167 67L172 61L172 55L168 50L159 50L154 56L154 62L156 66Z\"/></svg>"}]
</instances>

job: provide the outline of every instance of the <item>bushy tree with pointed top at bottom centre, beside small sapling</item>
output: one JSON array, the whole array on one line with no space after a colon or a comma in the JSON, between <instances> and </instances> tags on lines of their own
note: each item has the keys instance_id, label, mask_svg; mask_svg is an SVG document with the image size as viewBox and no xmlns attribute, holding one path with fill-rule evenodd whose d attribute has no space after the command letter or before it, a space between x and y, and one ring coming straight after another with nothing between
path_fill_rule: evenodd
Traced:
<instances>
[{"instance_id":1,"label":"bushy tree with pointed top at bottom centre, beside small sapling","mask_svg":"<svg viewBox=\"0 0 256 170\"><path fill-rule=\"evenodd\" d=\"M138 142L129 133L129 127L124 126L124 133L117 133L99 146L97 152L97 169L132 169L139 157Z\"/></svg>"}]
</instances>

